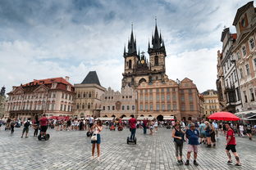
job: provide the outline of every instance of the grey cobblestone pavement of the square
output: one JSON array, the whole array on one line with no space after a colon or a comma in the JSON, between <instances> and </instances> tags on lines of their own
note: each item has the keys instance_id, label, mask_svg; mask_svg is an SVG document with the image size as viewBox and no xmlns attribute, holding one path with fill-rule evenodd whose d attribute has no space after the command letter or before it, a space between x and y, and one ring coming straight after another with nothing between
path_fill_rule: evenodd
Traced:
<instances>
[{"instance_id":1,"label":"grey cobblestone pavement of the square","mask_svg":"<svg viewBox=\"0 0 256 170\"><path fill-rule=\"evenodd\" d=\"M235 167L233 155L233 165L226 164L224 136L217 141L216 148L199 146L199 166L196 167L192 163L190 166L176 164L171 130L166 128L159 128L153 136L143 135L142 129L137 130L137 145L126 144L128 129L122 132L103 129L100 162L90 160L90 138L85 132L50 129L50 140L38 141L32 131L30 129L29 138L21 138L21 128L16 128L13 135L1 128L0 169L256 169L256 139L236 137L242 167Z\"/></svg>"}]
</instances>

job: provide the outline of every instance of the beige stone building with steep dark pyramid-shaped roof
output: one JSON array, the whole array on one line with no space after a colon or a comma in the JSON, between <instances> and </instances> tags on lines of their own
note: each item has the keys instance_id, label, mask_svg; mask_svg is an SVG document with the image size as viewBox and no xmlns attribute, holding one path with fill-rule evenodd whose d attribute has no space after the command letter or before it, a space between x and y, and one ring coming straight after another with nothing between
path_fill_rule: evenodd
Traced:
<instances>
[{"instance_id":1,"label":"beige stone building with steep dark pyramid-shaped roof","mask_svg":"<svg viewBox=\"0 0 256 170\"><path fill-rule=\"evenodd\" d=\"M75 117L98 117L101 110L101 96L106 91L98 80L96 71L90 71L80 84L75 84Z\"/></svg>"}]
</instances>

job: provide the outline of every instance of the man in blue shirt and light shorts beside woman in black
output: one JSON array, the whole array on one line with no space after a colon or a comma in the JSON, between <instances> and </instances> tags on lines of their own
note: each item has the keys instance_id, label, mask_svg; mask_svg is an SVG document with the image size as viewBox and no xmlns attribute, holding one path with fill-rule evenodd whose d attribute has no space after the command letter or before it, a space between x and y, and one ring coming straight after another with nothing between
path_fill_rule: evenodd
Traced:
<instances>
[{"instance_id":1,"label":"man in blue shirt and light shorts beside woman in black","mask_svg":"<svg viewBox=\"0 0 256 170\"><path fill-rule=\"evenodd\" d=\"M185 132L186 138L189 140L187 160L185 165L190 165L190 154L194 152L194 165L198 166L199 163L196 162L198 145L199 145L199 131L194 127L194 123L190 123L190 129Z\"/></svg>"}]
</instances>

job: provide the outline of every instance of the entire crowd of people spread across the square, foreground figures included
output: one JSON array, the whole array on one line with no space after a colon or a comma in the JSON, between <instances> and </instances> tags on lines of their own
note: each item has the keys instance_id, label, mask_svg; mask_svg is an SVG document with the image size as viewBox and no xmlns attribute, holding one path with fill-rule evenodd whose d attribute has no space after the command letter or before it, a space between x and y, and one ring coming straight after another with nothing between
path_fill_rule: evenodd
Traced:
<instances>
[{"instance_id":1,"label":"entire crowd of people spread across the square, foreground figures included","mask_svg":"<svg viewBox=\"0 0 256 170\"><path fill-rule=\"evenodd\" d=\"M97 160L100 159L100 133L103 131L103 125L105 129L122 130L123 128L130 129L130 141L135 141L136 129L142 129L144 135L149 134L150 136L157 135L159 128L171 128L170 137L173 138L175 145L175 154L177 163L190 165L190 156L193 153L193 164L198 166L197 155L200 147L208 147L214 149L217 146L217 140L220 135L226 136L226 155L228 158L227 163L232 163L231 153L235 156L235 165L240 166L240 158L236 152L236 141L235 135L240 137L248 136L249 140L253 140L252 134L255 133L256 125L241 123L241 122L223 122L223 121L212 121L208 122L206 119L201 121L184 121L181 122L176 120L158 121L158 119L143 119L137 120L131 115L129 120L112 119L108 121L102 121L95 119L91 116L82 119L47 119L45 115L43 118L35 117L35 119L27 119L25 122L21 122L19 119L0 119L1 126L5 124L5 130L11 130L11 134L14 133L14 128L20 128L23 126L21 138L25 135L25 138L29 137L30 128L34 129L33 135L38 136L39 130L46 133L47 128L55 129L56 131L85 131L90 133L91 144L92 144L92 158L94 159L94 151L97 148ZM149 131L149 132L148 132ZM187 144L187 154L185 162L183 162L183 146Z\"/></svg>"}]
</instances>

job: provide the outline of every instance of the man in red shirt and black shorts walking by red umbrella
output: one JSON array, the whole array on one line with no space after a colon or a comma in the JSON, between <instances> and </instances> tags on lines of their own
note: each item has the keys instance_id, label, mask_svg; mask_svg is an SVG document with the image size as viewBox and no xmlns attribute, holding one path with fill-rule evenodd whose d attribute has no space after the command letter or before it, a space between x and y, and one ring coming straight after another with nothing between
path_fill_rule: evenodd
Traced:
<instances>
[{"instance_id":1,"label":"man in red shirt and black shorts walking by red umbrella","mask_svg":"<svg viewBox=\"0 0 256 170\"><path fill-rule=\"evenodd\" d=\"M235 150L235 145L236 145L235 132L231 128L231 123L226 123L225 126L226 126L226 130L227 130L227 132L226 132L226 154L228 157L227 163L232 163L231 153L229 152L229 150L231 150L235 156L235 160L236 160L235 166L241 166L239 156Z\"/></svg>"}]
</instances>

